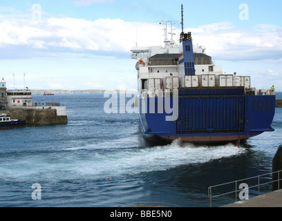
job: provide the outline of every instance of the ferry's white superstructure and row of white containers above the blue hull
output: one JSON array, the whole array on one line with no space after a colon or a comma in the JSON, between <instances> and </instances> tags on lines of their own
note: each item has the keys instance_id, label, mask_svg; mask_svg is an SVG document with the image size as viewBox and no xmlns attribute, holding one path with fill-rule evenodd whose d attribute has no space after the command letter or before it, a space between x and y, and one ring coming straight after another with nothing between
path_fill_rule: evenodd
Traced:
<instances>
[{"instance_id":1,"label":"ferry's white superstructure and row of white containers above the blue hull","mask_svg":"<svg viewBox=\"0 0 282 221\"><path fill-rule=\"evenodd\" d=\"M171 24L171 39L168 39L167 26ZM193 45L195 75L185 76L179 44L173 40L172 22L166 21L164 28L164 46L134 47L131 58L137 59L138 91L146 90L149 95L160 95L160 90L172 90L185 87L225 87L244 86L251 88L250 76L224 75L221 66L205 54L205 46ZM173 82L173 83L172 83ZM172 85L173 84L173 85Z\"/></svg>"}]
</instances>

